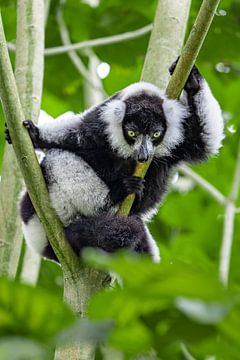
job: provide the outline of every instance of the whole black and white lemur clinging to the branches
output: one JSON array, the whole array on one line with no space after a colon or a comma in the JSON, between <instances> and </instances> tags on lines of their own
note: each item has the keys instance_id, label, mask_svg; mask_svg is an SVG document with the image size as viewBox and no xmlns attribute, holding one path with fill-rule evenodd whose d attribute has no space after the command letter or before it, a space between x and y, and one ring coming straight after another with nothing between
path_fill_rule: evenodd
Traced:
<instances>
[{"instance_id":1,"label":"whole black and white lemur clinging to the branches","mask_svg":"<svg viewBox=\"0 0 240 360\"><path fill-rule=\"evenodd\" d=\"M127 247L150 253L156 262L159 250L145 221L158 209L172 170L216 154L224 137L219 104L196 67L179 101L139 82L83 114L24 125L34 147L45 152L42 172L73 249L79 254L85 246L107 252ZM149 158L145 179L134 177L136 162ZM130 216L115 216L132 193ZM57 260L28 193L21 200L21 218L27 244Z\"/></svg>"}]
</instances>

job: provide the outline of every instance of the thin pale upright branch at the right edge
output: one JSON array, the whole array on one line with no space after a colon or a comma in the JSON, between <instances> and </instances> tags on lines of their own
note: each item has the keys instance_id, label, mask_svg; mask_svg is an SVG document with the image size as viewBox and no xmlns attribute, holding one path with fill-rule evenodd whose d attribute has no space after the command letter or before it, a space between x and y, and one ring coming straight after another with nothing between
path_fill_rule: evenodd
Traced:
<instances>
[{"instance_id":1,"label":"thin pale upright branch at the right edge","mask_svg":"<svg viewBox=\"0 0 240 360\"><path fill-rule=\"evenodd\" d=\"M219 265L219 276L222 283L227 286L229 279L231 249L234 234L234 220L236 214L236 201L238 198L240 186L240 144L238 148L238 156L236 162L236 169L232 183L232 189L229 197L227 198L225 214L224 214L224 225L223 225L223 240L220 251L220 265Z\"/></svg>"}]
</instances>

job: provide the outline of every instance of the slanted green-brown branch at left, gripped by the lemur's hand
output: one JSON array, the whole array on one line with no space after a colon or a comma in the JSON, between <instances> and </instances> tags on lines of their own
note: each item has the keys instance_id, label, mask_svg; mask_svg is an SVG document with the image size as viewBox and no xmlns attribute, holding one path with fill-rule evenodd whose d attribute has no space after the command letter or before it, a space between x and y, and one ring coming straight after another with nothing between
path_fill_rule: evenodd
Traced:
<instances>
[{"instance_id":1,"label":"slanted green-brown branch at left, gripped by the lemur's hand","mask_svg":"<svg viewBox=\"0 0 240 360\"><path fill-rule=\"evenodd\" d=\"M39 167L32 142L23 128L25 119L7 51L6 39L0 17L0 98L10 131L13 148L23 174L29 195L44 226L47 237L63 269L74 274L79 260L65 240L64 231L50 206L49 194Z\"/></svg>"}]
</instances>

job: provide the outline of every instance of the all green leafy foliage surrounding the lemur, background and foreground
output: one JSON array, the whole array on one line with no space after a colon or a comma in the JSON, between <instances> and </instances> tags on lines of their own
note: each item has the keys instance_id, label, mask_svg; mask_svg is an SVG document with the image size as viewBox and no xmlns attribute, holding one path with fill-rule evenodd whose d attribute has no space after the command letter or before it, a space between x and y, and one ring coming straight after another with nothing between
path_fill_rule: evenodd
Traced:
<instances>
[{"instance_id":1,"label":"all green leafy foliage surrounding the lemur, background and foreground","mask_svg":"<svg viewBox=\"0 0 240 360\"><path fill-rule=\"evenodd\" d=\"M83 1L67 0L64 18L72 42L80 42L151 23L156 3L102 0L98 7L91 7ZM14 4L0 1L7 40L11 42L15 41L16 31ZM192 1L189 29L200 4L200 0ZM58 0L51 1L46 47L61 45L55 17L58 6ZM220 155L194 170L225 196L231 189L240 130L239 6L238 0L221 1L197 61L228 120ZM139 80L148 39L149 35L145 35L93 48L101 61L111 65L103 81L107 93L111 95ZM87 65L86 51L79 54ZM84 83L66 54L46 57L42 108L53 116L68 110L82 111ZM2 114L0 120L1 169ZM186 184L185 177L180 180ZM1 279L0 358L52 359L55 344L71 338L106 342L120 349L126 358L145 353L152 359L183 359L185 346L196 359L211 355L220 360L239 359L240 215L235 218L230 284L226 290L218 280L224 208L199 186L189 181L188 185L185 190L180 182L171 187L150 224L160 245L161 265L124 255L110 258L86 254L88 263L118 273L124 285L94 297L91 321L76 322L61 303L61 269L51 262L43 262L36 289ZM98 358L102 358L98 350Z\"/></svg>"}]
</instances>

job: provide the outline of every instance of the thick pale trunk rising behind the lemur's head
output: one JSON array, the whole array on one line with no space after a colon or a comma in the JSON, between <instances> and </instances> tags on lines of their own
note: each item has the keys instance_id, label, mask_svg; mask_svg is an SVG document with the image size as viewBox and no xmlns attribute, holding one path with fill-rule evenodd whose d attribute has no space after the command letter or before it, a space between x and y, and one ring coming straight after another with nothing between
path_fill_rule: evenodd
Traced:
<instances>
[{"instance_id":1,"label":"thick pale trunk rising behind the lemur's head","mask_svg":"<svg viewBox=\"0 0 240 360\"><path fill-rule=\"evenodd\" d=\"M142 72L142 80L165 89L168 68L179 56L187 26L191 0L160 0Z\"/></svg>"}]
</instances>

